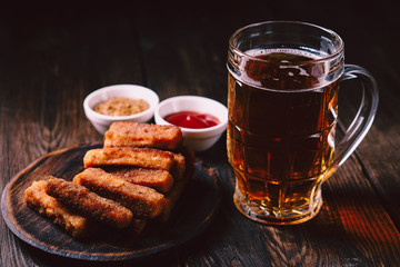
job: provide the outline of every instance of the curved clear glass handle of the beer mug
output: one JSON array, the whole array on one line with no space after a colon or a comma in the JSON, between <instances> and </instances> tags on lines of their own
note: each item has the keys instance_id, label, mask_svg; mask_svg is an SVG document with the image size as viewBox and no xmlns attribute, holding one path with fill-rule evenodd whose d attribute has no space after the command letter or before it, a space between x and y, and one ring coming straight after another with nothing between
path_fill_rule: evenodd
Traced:
<instances>
[{"instance_id":1,"label":"curved clear glass handle of the beer mug","mask_svg":"<svg viewBox=\"0 0 400 267\"><path fill-rule=\"evenodd\" d=\"M378 109L379 92L373 77L362 67L357 65L346 65L344 72L340 81L360 79L362 85L362 97L359 110L346 130L343 138L334 149L334 156L331 167L324 175L328 179L354 151L358 145L366 137L371 128Z\"/></svg>"}]
</instances>

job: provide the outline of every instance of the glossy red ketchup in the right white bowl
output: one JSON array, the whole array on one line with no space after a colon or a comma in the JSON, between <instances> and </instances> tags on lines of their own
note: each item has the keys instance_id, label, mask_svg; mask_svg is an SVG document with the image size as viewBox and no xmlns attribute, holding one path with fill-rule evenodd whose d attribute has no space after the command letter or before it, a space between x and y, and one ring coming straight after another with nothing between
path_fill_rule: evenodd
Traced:
<instances>
[{"instance_id":1,"label":"glossy red ketchup in the right white bowl","mask_svg":"<svg viewBox=\"0 0 400 267\"><path fill-rule=\"evenodd\" d=\"M180 111L170 113L164 117L164 120L171 125L192 129L208 128L220 122L218 118L212 115L200 113L196 111Z\"/></svg>"}]
</instances>

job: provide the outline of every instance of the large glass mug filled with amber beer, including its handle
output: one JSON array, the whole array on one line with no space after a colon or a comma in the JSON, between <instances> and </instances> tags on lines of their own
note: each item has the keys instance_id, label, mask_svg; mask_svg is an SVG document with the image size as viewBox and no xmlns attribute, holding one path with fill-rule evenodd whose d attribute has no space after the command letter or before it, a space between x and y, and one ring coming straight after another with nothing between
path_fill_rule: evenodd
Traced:
<instances>
[{"instance_id":1,"label":"large glass mug filled with amber beer, including its handle","mask_svg":"<svg viewBox=\"0 0 400 267\"><path fill-rule=\"evenodd\" d=\"M233 196L247 217L299 224L322 206L322 182L370 129L378 88L361 67L344 65L344 44L331 30L270 21L236 31L228 51L228 158ZM336 142L339 85L360 79L362 101Z\"/></svg>"}]
</instances>

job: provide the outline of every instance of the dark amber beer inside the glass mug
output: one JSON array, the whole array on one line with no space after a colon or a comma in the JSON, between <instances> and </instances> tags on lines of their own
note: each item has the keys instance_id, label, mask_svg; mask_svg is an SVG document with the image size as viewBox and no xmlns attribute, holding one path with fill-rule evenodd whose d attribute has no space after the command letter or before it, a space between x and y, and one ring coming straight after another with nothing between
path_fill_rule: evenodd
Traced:
<instances>
[{"instance_id":1,"label":"dark amber beer inside the glass mug","mask_svg":"<svg viewBox=\"0 0 400 267\"><path fill-rule=\"evenodd\" d=\"M241 76L230 71L228 77L236 204L289 218L319 209L319 187L334 151L338 80L327 81L327 67L318 61L322 56L312 51L246 53L251 57L241 62Z\"/></svg>"}]
</instances>

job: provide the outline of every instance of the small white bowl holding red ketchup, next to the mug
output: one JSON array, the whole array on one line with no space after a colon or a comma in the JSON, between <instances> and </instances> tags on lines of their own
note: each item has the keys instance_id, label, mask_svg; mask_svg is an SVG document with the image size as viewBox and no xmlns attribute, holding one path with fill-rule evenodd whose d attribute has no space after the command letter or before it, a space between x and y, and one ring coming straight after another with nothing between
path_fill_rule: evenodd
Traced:
<instances>
[{"instance_id":1,"label":"small white bowl holding red ketchup, next to the mug","mask_svg":"<svg viewBox=\"0 0 400 267\"><path fill-rule=\"evenodd\" d=\"M171 125L163 118L181 111L197 111L213 115L220 121L217 126L202 129L181 127L183 144L194 151L203 151L211 148L227 129L227 107L213 99L197 96L179 96L161 101L154 111L156 123Z\"/></svg>"}]
</instances>

